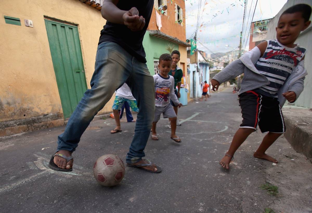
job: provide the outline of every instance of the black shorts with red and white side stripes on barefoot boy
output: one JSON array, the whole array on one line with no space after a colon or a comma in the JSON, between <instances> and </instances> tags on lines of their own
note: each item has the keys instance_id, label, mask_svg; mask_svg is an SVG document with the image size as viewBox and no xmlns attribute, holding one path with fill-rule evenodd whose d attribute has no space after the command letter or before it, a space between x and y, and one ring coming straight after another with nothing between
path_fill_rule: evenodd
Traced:
<instances>
[{"instance_id":1,"label":"black shorts with red and white side stripes on barefoot boy","mask_svg":"<svg viewBox=\"0 0 312 213\"><path fill-rule=\"evenodd\" d=\"M247 91L239 95L243 121L240 128L252 128L262 133L285 133L286 127L277 98Z\"/></svg>"}]
</instances>

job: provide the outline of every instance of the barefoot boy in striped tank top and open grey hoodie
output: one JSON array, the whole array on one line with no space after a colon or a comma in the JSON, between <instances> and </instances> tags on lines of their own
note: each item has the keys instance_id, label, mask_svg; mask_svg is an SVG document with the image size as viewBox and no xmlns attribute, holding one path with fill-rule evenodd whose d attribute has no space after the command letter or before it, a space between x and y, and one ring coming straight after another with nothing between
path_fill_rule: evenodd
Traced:
<instances>
[{"instance_id":1,"label":"barefoot boy in striped tank top and open grey hoodie","mask_svg":"<svg viewBox=\"0 0 312 213\"><path fill-rule=\"evenodd\" d=\"M277 163L265 152L285 133L281 107L286 99L295 102L304 88L306 50L294 42L300 32L309 27L310 15L311 7L306 4L288 8L278 21L277 40L260 43L212 78L215 91L220 83L244 73L238 93L243 121L220 161L222 167L229 169L234 153L258 125L261 132L267 134L254 157Z\"/></svg>"}]
</instances>

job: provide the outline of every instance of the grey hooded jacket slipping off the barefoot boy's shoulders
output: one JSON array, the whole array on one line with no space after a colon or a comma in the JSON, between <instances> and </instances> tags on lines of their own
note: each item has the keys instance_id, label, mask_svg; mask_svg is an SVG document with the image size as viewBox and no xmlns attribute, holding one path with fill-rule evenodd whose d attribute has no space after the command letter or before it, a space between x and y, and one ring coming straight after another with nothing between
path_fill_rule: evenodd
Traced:
<instances>
[{"instance_id":1,"label":"grey hooded jacket slipping off the barefoot boy's shoulders","mask_svg":"<svg viewBox=\"0 0 312 213\"><path fill-rule=\"evenodd\" d=\"M239 59L236 59L231 64L227 65L212 79L217 80L221 84L244 73L243 80L241 81L241 89L239 90L238 95L264 85L269 85L270 82L266 76L260 74L255 67L255 64L260 56L261 52L259 48L255 47L251 51L246 52ZM282 94L287 91L295 92L296 99L298 99L299 95L303 91L304 79L307 74L308 73L304 67L304 61L300 61L284 82L284 85L278 90L280 107L282 107L286 102L286 99Z\"/></svg>"}]
</instances>

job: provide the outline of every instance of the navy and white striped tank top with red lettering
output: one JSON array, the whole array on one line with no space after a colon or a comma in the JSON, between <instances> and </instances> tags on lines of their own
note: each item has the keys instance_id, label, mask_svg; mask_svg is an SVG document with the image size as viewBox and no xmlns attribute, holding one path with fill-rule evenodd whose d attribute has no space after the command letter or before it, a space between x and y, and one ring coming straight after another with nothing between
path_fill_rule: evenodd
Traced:
<instances>
[{"instance_id":1,"label":"navy and white striped tank top with red lettering","mask_svg":"<svg viewBox=\"0 0 312 213\"><path fill-rule=\"evenodd\" d=\"M267 40L267 42L266 51L258 59L255 67L260 74L266 76L270 84L259 87L255 91L269 97L278 97L278 90L301 61L306 50L299 44L295 48L290 48L277 40Z\"/></svg>"}]
</instances>

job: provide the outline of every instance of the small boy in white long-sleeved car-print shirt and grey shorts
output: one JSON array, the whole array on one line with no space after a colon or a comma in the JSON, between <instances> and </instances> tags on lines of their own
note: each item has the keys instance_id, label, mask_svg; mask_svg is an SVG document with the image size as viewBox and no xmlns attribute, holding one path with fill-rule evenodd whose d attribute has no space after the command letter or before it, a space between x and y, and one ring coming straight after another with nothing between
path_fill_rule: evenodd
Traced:
<instances>
[{"instance_id":1,"label":"small boy in white long-sleeved car-print shirt and grey shorts","mask_svg":"<svg viewBox=\"0 0 312 213\"><path fill-rule=\"evenodd\" d=\"M177 106L181 107L177 96L174 94L174 79L168 75L172 63L169 54L163 54L159 57L159 74L153 75L155 85L155 114L152 125L152 139L158 140L156 133L156 124L163 114L164 118L169 118L171 123L171 139L177 143L181 143L181 139L175 134L177 128L177 115L175 114L170 100Z\"/></svg>"}]
</instances>

